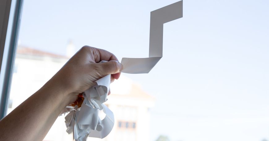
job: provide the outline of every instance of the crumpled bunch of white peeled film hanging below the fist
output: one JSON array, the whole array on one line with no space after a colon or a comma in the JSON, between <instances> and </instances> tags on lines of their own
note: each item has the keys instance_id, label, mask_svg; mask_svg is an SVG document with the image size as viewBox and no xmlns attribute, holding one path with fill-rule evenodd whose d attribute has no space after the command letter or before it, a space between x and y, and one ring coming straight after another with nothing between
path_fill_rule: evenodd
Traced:
<instances>
[{"instance_id":1,"label":"crumpled bunch of white peeled film hanging below the fist","mask_svg":"<svg viewBox=\"0 0 269 141\"><path fill-rule=\"evenodd\" d=\"M73 133L75 141L86 141L87 137L105 138L114 126L114 115L104 102L110 85L110 74L96 81L96 85L83 93L84 101L80 108L78 106L67 106L63 114L69 112L65 117L68 134ZM99 111L106 114L100 119Z\"/></svg>"}]
</instances>

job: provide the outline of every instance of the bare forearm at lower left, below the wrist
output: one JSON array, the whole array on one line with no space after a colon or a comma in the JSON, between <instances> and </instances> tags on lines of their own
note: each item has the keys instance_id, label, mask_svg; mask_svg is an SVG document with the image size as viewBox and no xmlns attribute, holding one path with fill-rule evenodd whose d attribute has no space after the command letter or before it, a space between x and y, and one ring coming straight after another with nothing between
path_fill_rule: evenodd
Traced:
<instances>
[{"instance_id":1,"label":"bare forearm at lower left, below the wrist","mask_svg":"<svg viewBox=\"0 0 269 141\"><path fill-rule=\"evenodd\" d=\"M60 84L48 81L3 118L0 121L1 139L42 141L62 109L69 104L69 97Z\"/></svg>"}]
</instances>

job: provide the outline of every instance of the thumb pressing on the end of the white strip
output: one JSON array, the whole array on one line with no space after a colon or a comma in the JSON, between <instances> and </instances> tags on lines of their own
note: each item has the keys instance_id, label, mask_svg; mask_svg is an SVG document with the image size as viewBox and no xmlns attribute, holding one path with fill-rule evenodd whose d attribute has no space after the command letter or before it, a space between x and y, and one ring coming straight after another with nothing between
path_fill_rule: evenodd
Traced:
<instances>
[{"instance_id":1,"label":"thumb pressing on the end of the white strip","mask_svg":"<svg viewBox=\"0 0 269 141\"><path fill-rule=\"evenodd\" d=\"M108 74L116 74L122 71L123 66L120 62L115 60L110 60L108 62L104 63L96 63L99 65L98 68L100 68L102 74L108 75Z\"/></svg>"}]
</instances>

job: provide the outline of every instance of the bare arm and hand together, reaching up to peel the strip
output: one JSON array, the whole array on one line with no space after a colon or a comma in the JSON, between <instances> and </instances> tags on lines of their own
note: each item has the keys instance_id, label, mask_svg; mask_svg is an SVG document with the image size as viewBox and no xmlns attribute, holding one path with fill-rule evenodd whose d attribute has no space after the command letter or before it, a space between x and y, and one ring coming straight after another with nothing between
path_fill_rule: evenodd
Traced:
<instances>
[{"instance_id":1,"label":"bare arm and hand together, reaching up to peel the strip","mask_svg":"<svg viewBox=\"0 0 269 141\"><path fill-rule=\"evenodd\" d=\"M98 63L107 60L105 63ZM123 66L112 53L82 47L36 93L0 121L0 137L5 141L42 141L61 111L94 81L111 75L120 77Z\"/></svg>"}]
</instances>

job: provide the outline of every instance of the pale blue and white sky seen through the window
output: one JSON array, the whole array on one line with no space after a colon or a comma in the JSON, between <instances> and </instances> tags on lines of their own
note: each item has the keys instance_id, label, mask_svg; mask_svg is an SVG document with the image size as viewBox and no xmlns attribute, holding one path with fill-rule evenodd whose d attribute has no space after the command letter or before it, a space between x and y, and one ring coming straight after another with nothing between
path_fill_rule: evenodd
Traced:
<instances>
[{"instance_id":1,"label":"pale blue and white sky seen through the window","mask_svg":"<svg viewBox=\"0 0 269 141\"><path fill-rule=\"evenodd\" d=\"M70 40L148 57L150 12L177 0L24 0L19 44L64 55ZM163 58L124 74L156 98L151 141L269 140L269 1L184 0ZM111 88L113 91L113 88Z\"/></svg>"}]
</instances>

